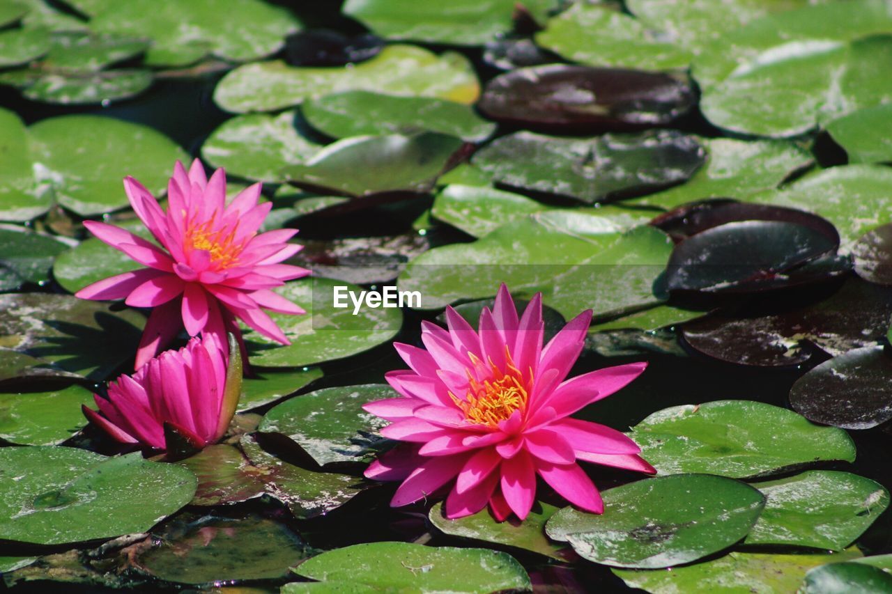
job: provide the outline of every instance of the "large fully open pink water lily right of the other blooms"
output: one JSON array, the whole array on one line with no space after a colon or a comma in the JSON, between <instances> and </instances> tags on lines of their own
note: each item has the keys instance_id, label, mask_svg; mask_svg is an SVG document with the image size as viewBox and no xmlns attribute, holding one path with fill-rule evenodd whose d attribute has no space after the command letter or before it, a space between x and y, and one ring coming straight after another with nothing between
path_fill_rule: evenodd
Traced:
<instances>
[{"instance_id":1,"label":"large fully open pink water lily right of the other blooms","mask_svg":"<svg viewBox=\"0 0 892 594\"><path fill-rule=\"evenodd\" d=\"M372 463L368 478L402 481L393 507L423 499L454 480L446 515L469 516L487 504L502 521L533 507L536 475L587 511L604 510L577 461L656 472L624 433L569 418L638 377L646 363L607 367L565 381L582 352L591 310L543 348L541 294L519 319L502 285L478 330L446 309L449 330L422 322L425 349L395 343L411 370L386 375L399 398L364 408L392 423L385 437L404 441Z\"/></svg>"}]
</instances>

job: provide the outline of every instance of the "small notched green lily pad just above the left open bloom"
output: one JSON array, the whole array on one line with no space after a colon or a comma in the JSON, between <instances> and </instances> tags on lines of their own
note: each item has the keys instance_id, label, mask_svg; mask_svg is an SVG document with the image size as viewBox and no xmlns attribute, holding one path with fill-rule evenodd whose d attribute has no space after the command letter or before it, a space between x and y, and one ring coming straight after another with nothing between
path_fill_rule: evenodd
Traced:
<instances>
[{"instance_id":1,"label":"small notched green lily pad just above the left open bloom","mask_svg":"<svg viewBox=\"0 0 892 594\"><path fill-rule=\"evenodd\" d=\"M202 157L227 174L265 182L285 180L282 169L322 148L294 128L295 111L251 113L227 120L202 144Z\"/></svg>"}]
</instances>

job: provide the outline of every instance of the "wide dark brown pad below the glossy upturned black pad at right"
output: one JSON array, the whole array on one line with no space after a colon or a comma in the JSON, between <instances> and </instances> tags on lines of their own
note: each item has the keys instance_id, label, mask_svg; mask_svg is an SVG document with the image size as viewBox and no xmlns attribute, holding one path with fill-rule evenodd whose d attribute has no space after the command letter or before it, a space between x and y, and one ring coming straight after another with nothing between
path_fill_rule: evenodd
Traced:
<instances>
[{"instance_id":1,"label":"wide dark brown pad below the glossy upturned black pad at right","mask_svg":"<svg viewBox=\"0 0 892 594\"><path fill-rule=\"evenodd\" d=\"M815 350L838 356L875 345L888 330L892 289L859 279L829 299L762 317L714 315L683 326L684 342L708 357L756 367L786 367L810 359Z\"/></svg>"}]
</instances>

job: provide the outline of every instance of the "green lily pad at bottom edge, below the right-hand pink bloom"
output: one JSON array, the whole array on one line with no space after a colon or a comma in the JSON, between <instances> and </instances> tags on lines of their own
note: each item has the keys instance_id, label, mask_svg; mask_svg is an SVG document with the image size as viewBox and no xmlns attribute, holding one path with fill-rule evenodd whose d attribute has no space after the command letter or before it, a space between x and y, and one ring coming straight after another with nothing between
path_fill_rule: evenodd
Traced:
<instances>
[{"instance_id":1,"label":"green lily pad at bottom edge, below the right-hand pink bloom","mask_svg":"<svg viewBox=\"0 0 892 594\"><path fill-rule=\"evenodd\" d=\"M329 550L293 572L320 582L381 590L475 593L533 588L523 566L507 553L409 542L369 542Z\"/></svg>"}]
</instances>

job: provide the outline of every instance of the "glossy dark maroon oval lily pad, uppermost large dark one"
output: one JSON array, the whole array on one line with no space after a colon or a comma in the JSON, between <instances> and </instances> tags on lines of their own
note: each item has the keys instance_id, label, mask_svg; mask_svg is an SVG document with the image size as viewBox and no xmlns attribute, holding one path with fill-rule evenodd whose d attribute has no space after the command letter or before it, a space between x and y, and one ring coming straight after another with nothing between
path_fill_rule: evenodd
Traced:
<instances>
[{"instance_id":1,"label":"glossy dark maroon oval lily pad, uppermost large dark one","mask_svg":"<svg viewBox=\"0 0 892 594\"><path fill-rule=\"evenodd\" d=\"M665 74L549 64L493 78L479 107L492 120L579 134L664 126L694 103L690 83Z\"/></svg>"}]
</instances>

